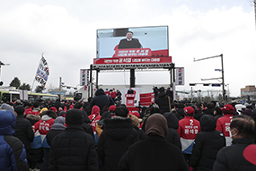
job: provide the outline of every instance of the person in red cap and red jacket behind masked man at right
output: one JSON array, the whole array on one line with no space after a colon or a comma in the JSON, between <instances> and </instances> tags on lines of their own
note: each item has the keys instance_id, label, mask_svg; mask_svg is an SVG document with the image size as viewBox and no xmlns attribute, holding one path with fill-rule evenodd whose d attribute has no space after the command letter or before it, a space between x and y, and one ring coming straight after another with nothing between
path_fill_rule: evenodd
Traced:
<instances>
[{"instance_id":1,"label":"person in red cap and red jacket behind masked man at right","mask_svg":"<svg viewBox=\"0 0 256 171\"><path fill-rule=\"evenodd\" d=\"M229 133L229 125L234 116L235 109L232 105L226 104L225 107L221 108L224 116L216 120L216 130L224 133L225 135L225 144L230 146L232 142L232 137Z\"/></svg>"}]
</instances>

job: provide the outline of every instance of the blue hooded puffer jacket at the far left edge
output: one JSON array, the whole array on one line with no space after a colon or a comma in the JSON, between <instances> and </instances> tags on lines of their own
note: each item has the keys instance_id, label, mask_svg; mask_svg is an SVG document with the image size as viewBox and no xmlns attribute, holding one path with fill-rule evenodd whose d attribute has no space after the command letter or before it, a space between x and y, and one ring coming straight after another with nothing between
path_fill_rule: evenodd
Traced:
<instances>
[{"instance_id":1,"label":"blue hooded puffer jacket at the far left edge","mask_svg":"<svg viewBox=\"0 0 256 171\"><path fill-rule=\"evenodd\" d=\"M13 136L16 117L10 110L0 110L0 170L28 170L22 141Z\"/></svg>"}]
</instances>

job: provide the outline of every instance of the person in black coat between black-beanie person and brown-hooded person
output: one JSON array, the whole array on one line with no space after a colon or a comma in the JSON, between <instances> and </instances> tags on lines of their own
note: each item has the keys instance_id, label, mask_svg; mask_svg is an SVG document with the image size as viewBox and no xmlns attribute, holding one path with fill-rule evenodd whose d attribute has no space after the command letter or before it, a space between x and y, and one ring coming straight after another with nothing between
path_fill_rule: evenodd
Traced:
<instances>
[{"instance_id":1,"label":"person in black coat between black-beanie person and brown-hooded person","mask_svg":"<svg viewBox=\"0 0 256 171\"><path fill-rule=\"evenodd\" d=\"M104 120L104 129L98 142L98 155L105 171L118 171L119 159L128 147L138 141L138 135L128 118L127 107L119 106L116 115Z\"/></svg>"}]
</instances>

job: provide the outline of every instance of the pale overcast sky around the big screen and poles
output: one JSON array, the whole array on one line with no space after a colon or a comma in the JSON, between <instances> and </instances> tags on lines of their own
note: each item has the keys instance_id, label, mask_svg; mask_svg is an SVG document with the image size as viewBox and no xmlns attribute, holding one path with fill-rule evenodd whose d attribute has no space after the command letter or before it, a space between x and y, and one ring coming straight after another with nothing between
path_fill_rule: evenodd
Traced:
<instances>
[{"instance_id":1,"label":"pale overcast sky around the big screen and poles","mask_svg":"<svg viewBox=\"0 0 256 171\"><path fill-rule=\"evenodd\" d=\"M169 26L169 55L185 68L189 83L218 82L224 55L225 83L231 96L256 84L255 13L250 0L0 0L1 80L14 77L32 85L40 56L49 64L47 87L79 84L81 68L96 57L96 30ZM150 77L149 77L150 75ZM137 84L170 83L168 72L136 73ZM150 78L150 79L149 79ZM100 73L100 84L129 84L128 73ZM39 85L35 83L34 87ZM204 90L197 86L194 90ZM210 88L207 88L210 89ZM215 88L221 90L221 88Z\"/></svg>"}]
</instances>

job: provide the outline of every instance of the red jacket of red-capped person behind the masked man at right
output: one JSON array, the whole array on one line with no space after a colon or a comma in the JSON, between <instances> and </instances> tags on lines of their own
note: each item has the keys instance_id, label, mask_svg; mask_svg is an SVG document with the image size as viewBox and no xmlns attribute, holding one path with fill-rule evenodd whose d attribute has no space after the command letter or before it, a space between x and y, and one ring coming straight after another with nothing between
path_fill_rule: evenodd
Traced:
<instances>
[{"instance_id":1,"label":"red jacket of red-capped person behind the masked man at right","mask_svg":"<svg viewBox=\"0 0 256 171\"><path fill-rule=\"evenodd\" d=\"M233 115L227 114L218 118L216 121L216 130L222 132L225 135L225 137L230 137L229 125L231 123L232 118Z\"/></svg>"}]
</instances>

